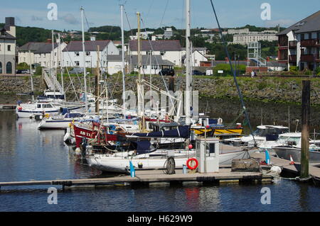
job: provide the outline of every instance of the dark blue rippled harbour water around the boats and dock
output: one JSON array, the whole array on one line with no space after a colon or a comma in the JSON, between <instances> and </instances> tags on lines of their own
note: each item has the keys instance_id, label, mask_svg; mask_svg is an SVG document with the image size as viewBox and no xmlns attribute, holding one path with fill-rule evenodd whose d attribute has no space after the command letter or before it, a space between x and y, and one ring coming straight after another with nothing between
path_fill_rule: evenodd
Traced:
<instances>
[{"instance_id":1,"label":"dark blue rippled harbour water around the boats and dock","mask_svg":"<svg viewBox=\"0 0 320 226\"><path fill-rule=\"evenodd\" d=\"M260 123L256 121L254 128ZM0 181L112 176L81 164L64 144L63 130L40 131L37 125L35 120L17 120L14 111L0 111ZM270 205L261 203L263 187L270 188ZM241 186L112 186L70 191L57 187L57 205L47 203L46 188L1 188L0 211L320 211L319 187L287 179Z\"/></svg>"}]
</instances>

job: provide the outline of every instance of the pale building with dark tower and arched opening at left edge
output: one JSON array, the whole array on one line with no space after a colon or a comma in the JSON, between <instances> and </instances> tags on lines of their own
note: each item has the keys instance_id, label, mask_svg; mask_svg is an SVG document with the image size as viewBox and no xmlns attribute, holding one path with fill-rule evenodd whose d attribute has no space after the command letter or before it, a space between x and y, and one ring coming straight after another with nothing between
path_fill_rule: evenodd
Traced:
<instances>
[{"instance_id":1,"label":"pale building with dark tower and arched opening at left edge","mask_svg":"<svg viewBox=\"0 0 320 226\"><path fill-rule=\"evenodd\" d=\"M6 17L0 29L0 74L16 74L16 26L14 17Z\"/></svg>"}]
</instances>

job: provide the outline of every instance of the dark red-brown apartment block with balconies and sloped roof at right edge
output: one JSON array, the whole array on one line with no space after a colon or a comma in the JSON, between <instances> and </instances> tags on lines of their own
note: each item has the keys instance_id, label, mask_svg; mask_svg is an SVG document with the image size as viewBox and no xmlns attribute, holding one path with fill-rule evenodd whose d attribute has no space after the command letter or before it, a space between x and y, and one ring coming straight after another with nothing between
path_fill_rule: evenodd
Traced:
<instances>
[{"instance_id":1,"label":"dark red-brown apartment block with balconies and sloped roof at right edge","mask_svg":"<svg viewBox=\"0 0 320 226\"><path fill-rule=\"evenodd\" d=\"M278 34L279 62L300 70L320 67L320 11Z\"/></svg>"}]
</instances>

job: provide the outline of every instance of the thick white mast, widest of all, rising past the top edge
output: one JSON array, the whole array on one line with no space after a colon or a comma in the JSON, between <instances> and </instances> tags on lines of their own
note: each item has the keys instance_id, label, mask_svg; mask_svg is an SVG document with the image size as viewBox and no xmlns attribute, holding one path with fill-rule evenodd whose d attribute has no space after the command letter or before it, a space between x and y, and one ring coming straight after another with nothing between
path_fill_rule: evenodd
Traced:
<instances>
[{"instance_id":1,"label":"thick white mast, widest of all, rising past the top edge","mask_svg":"<svg viewBox=\"0 0 320 226\"><path fill-rule=\"evenodd\" d=\"M186 0L186 125L191 124L190 21L190 0Z\"/></svg>"}]
</instances>

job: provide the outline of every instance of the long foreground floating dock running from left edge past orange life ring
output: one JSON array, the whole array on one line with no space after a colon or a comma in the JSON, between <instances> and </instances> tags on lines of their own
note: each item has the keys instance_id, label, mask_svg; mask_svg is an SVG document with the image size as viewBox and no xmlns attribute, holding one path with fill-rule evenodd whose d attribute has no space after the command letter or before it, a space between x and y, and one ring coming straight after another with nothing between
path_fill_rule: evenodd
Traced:
<instances>
[{"instance_id":1,"label":"long foreground floating dock running from left edge past orange life ring","mask_svg":"<svg viewBox=\"0 0 320 226\"><path fill-rule=\"evenodd\" d=\"M65 188L85 186L151 186L154 184L167 183L272 183L273 176L261 172L231 172L231 169L220 169L217 173L199 174L189 172L183 174L182 169L176 170L176 174L164 174L162 170L137 170L136 176L114 176L96 179L61 179L48 181L14 181L0 182L0 188L4 186L62 186Z\"/></svg>"}]
</instances>

